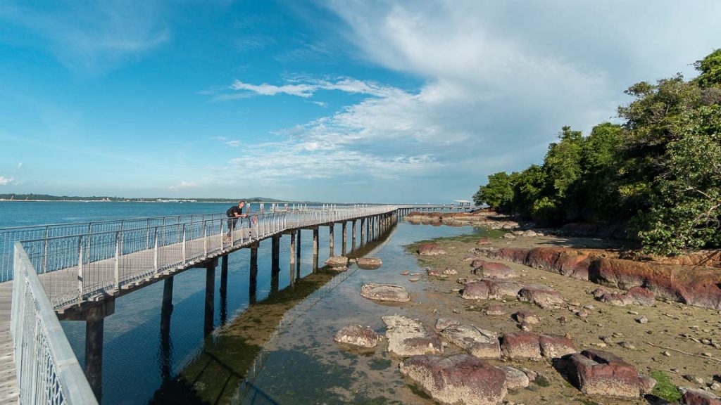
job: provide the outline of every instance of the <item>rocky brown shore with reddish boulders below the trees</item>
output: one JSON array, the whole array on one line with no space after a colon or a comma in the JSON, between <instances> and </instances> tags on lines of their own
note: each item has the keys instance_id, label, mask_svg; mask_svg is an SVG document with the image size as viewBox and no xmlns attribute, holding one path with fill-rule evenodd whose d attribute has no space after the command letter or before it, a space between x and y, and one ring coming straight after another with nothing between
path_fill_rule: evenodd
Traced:
<instances>
[{"instance_id":1,"label":"rocky brown shore with reddish boulders below the trees","mask_svg":"<svg viewBox=\"0 0 721 405\"><path fill-rule=\"evenodd\" d=\"M507 231L409 246L425 274L398 271L423 294L359 292L398 305L376 350L436 403L721 404L718 252L645 257L492 213L409 219Z\"/></svg>"}]
</instances>

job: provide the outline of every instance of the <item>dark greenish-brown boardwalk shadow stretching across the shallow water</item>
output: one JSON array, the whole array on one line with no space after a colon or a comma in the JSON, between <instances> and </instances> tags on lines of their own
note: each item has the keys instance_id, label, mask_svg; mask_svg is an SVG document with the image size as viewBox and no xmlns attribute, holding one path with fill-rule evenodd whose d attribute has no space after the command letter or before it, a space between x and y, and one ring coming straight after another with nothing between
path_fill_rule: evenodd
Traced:
<instances>
[{"instance_id":1,"label":"dark greenish-brown boardwalk shadow stretching across the shallow water","mask_svg":"<svg viewBox=\"0 0 721 405\"><path fill-rule=\"evenodd\" d=\"M348 257L363 257L383 246L394 228L379 238L358 246ZM323 267L296 280L265 300L250 306L229 324L205 339L203 352L174 378L165 378L149 404L277 404L265 391L254 385L276 339L299 316L318 303L324 295L353 275Z\"/></svg>"}]
</instances>

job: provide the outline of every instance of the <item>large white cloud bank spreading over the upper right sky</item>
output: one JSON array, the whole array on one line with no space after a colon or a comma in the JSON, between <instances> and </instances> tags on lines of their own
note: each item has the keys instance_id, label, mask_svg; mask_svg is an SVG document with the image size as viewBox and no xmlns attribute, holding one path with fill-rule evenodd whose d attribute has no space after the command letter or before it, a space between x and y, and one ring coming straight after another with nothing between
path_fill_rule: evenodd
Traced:
<instances>
[{"instance_id":1,"label":"large white cloud bank spreading over the upper right sky","mask_svg":"<svg viewBox=\"0 0 721 405\"><path fill-rule=\"evenodd\" d=\"M688 73L721 35L712 17L721 3L711 1L658 1L653 13L648 4L623 1L322 4L345 24L340 34L356 55L420 86L349 77L235 81L232 92L216 98L285 94L314 102L323 91L366 97L278 130L282 141L242 148L230 169L247 172L266 162L254 175L277 181L427 176L445 179L444 192L454 198L468 197L487 174L540 161L562 125L589 130L612 119L634 81Z\"/></svg>"}]
</instances>

